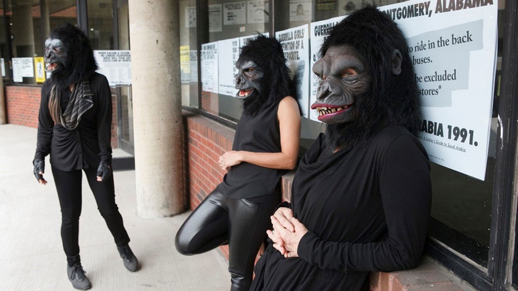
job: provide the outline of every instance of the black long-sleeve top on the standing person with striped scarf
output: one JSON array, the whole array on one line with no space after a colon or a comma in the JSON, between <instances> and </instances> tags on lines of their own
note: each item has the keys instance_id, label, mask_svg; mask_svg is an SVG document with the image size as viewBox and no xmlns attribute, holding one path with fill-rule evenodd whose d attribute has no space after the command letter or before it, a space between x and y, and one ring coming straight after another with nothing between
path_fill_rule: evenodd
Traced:
<instances>
[{"instance_id":1,"label":"black long-sleeve top on the standing person with striped scarf","mask_svg":"<svg viewBox=\"0 0 518 291\"><path fill-rule=\"evenodd\" d=\"M97 73L89 81L93 106L83 113L79 125L73 130L54 125L49 111L52 78L45 81L41 87L35 159L44 159L50 154L52 166L63 171L96 168L100 161L111 164L110 86L106 77ZM61 107L65 110L70 91L66 88L61 94Z\"/></svg>"}]
</instances>

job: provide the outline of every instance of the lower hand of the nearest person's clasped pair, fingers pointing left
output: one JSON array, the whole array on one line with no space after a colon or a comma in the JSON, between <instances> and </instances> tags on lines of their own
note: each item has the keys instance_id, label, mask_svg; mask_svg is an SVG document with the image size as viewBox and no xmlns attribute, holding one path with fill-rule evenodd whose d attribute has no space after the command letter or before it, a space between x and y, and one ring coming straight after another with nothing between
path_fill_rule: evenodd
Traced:
<instances>
[{"instance_id":1,"label":"lower hand of the nearest person's clasped pair, fingers pointing left","mask_svg":"<svg viewBox=\"0 0 518 291\"><path fill-rule=\"evenodd\" d=\"M302 239L302 237L308 232L306 226L300 223L295 217L292 217L290 222L295 228L295 230L292 232L284 228L275 216L270 216L270 219L271 223L274 225L275 235L279 234L283 241L282 247L278 245L279 248L276 248L274 243L274 248L279 250L279 252L281 252L285 258L298 257L298 243L300 242L300 239Z\"/></svg>"}]
</instances>

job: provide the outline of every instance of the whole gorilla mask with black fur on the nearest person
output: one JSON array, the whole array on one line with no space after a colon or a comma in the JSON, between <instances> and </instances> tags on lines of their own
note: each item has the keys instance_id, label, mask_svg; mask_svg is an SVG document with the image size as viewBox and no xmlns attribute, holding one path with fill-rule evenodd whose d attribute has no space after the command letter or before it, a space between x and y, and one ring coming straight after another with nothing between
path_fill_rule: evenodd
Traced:
<instances>
[{"instance_id":1,"label":"whole gorilla mask with black fur on the nearest person","mask_svg":"<svg viewBox=\"0 0 518 291\"><path fill-rule=\"evenodd\" d=\"M376 7L365 6L335 25L313 66L320 77L319 120L327 123L326 154L350 150L392 125L416 134L420 114L405 37Z\"/></svg>"}]
</instances>

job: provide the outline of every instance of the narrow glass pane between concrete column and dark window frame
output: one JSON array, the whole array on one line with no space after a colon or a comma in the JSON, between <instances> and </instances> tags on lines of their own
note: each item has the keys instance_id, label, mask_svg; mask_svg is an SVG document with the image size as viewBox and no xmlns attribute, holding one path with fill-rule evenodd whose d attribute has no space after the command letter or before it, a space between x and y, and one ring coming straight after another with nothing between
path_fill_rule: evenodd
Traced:
<instances>
[{"instance_id":1,"label":"narrow glass pane between concrete column and dark window frame","mask_svg":"<svg viewBox=\"0 0 518 291\"><path fill-rule=\"evenodd\" d=\"M180 0L180 78L182 106L198 107L196 0Z\"/></svg>"}]
</instances>

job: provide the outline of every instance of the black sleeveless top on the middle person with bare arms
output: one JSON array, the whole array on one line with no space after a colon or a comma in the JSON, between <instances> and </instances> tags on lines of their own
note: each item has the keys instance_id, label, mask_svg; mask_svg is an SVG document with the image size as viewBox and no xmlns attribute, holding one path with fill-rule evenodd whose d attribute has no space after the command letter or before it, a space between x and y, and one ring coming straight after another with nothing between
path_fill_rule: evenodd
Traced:
<instances>
[{"instance_id":1,"label":"black sleeveless top on the middle person with bare arms","mask_svg":"<svg viewBox=\"0 0 518 291\"><path fill-rule=\"evenodd\" d=\"M255 116L243 112L234 136L234 151L256 153L281 152L281 134L277 110L279 101L266 105ZM250 163L233 166L217 190L226 197L245 199L274 194L286 170L265 168Z\"/></svg>"}]
</instances>

